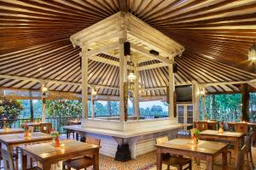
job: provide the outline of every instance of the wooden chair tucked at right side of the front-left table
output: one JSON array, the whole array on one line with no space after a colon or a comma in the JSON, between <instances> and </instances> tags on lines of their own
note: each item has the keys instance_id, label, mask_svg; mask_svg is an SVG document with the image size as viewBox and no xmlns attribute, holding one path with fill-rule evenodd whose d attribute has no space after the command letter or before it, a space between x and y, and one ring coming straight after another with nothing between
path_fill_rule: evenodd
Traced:
<instances>
[{"instance_id":1,"label":"wooden chair tucked at right side of the front-left table","mask_svg":"<svg viewBox=\"0 0 256 170\"><path fill-rule=\"evenodd\" d=\"M86 137L85 143L100 145L101 139ZM67 166L67 170L71 170L71 168L76 170L84 168L84 170L86 170L86 167L94 166L94 164L95 162L94 162L93 156L83 156L83 157L63 161L62 169L66 170L66 166Z\"/></svg>"}]
</instances>

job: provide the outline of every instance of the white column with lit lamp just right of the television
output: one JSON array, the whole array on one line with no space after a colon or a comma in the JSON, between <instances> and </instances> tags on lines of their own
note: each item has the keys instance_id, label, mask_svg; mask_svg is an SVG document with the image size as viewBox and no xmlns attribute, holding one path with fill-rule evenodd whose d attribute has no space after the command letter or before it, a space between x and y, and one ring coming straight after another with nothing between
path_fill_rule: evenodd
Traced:
<instances>
[{"instance_id":1,"label":"white column with lit lamp just right of the television","mask_svg":"<svg viewBox=\"0 0 256 170\"><path fill-rule=\"evenodd\" d=\"M192 84L192 102L193 102L193 121L199 121L199 111L200 111L200 89L197 82Z\"/></svg>"}]
</instances>

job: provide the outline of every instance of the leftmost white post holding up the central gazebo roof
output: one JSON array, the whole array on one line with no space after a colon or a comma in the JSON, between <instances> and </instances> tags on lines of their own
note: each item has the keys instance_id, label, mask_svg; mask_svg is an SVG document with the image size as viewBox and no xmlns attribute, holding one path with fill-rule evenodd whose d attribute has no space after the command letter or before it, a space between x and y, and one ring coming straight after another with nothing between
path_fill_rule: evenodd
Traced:
<instances>
[{"instance_id":1,"label":"leftmost white post holding up the central gazebo roof","mask_svg":"<svg viewBox=\"0 0 256 170\"><path fill-rule=\"evenodd\" d=\"M88 48L82 49L82 118L88 119Z\"/></svg>"}]
</instances>

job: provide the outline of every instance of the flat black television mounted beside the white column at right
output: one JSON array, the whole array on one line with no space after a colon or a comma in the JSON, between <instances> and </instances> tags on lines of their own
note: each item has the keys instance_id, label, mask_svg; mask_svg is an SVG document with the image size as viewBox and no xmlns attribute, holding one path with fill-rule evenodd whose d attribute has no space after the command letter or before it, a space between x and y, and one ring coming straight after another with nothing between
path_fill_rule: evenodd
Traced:
<instances>
[{"instance_id":1,"label":"flat black television mounted beside the white column at right","mask_svg":"<svg viewBox=\"0 0 256 170\"><path fill-rule=\"evenodd\" d=\"M192 102L192 86L176 86L176 102Z\"/></svg>"}]
</instances>

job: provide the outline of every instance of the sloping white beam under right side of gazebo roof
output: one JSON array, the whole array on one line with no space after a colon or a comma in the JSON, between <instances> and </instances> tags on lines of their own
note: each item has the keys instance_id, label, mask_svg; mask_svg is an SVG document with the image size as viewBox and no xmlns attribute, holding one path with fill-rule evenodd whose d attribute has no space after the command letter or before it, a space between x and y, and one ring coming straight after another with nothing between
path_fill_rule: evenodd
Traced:
<instances>
[{"instance_id":1,"label":"sloping white beam under right side of gazebo roof","mask_svg":"<svg viewBox=\"0 0 256 170\"><path fill-rule=\"evenodd\" d=\"M146 55L147 57L149 57L151 59L160 60L161 62L163 62L167 65L172 65L173 64L173 61L171 59L166 59L165 57L160 56L160 55L150 54L148 50L146 50L145 48L139 47L134 43L131 43L131 48L134 49L135 51L143 54L143 55Z\"/></svg>"}]
</instances>

